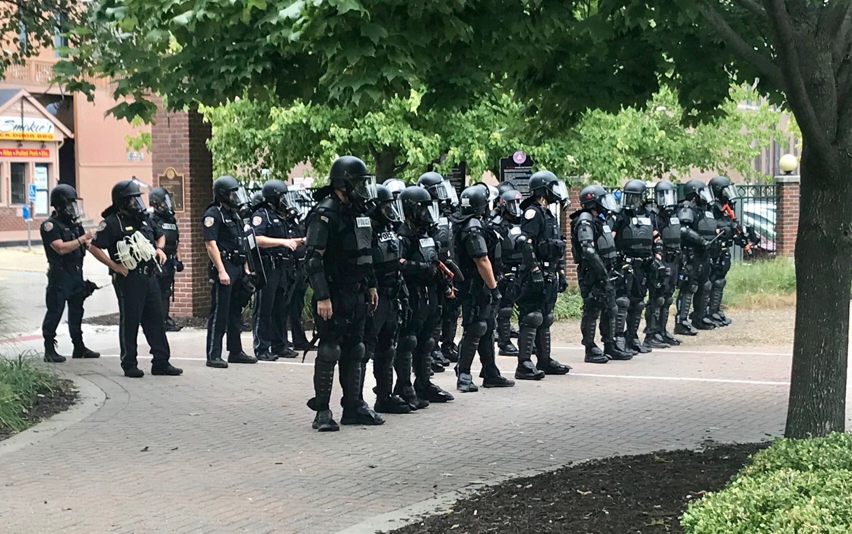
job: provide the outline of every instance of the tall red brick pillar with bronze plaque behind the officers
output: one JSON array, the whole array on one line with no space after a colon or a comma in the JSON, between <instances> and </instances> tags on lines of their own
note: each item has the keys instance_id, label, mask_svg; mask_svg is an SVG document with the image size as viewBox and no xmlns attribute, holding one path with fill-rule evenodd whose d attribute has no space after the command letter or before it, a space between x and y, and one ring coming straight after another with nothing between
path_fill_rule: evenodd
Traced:
<instances>
[{"instance_id":1,"label":"tall red brick pillar with bronze plaque behind the officers","mask_svg":"<svg viewBox=\"0 0 852 534\"><path fill-rule=\"evenodd\" d=\"M172 167L183 175L183 210L176 212L181 231L178 258L184 271L175 276L176 317L203 317L210 307L207 252L201 237L201 217L213 199L213 158L207 148L210 124L197 111L166 112L159 108L151 129L153 184Z\"/></svg>"}]
</instances>

